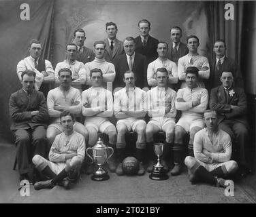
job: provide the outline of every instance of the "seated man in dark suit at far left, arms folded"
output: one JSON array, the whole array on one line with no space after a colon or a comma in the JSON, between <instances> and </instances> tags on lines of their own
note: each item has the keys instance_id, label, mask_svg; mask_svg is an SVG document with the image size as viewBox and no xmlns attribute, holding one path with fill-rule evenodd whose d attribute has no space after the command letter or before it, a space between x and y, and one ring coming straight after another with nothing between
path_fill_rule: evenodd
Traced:
<instances>
[{"instance_id":1,"label":"seated man in dark suit at far left, arms folded","mask_svg":"<svg viewBox=\"0 0 256 217\"><path fill-rule=\"evenodd\" d=\"M30 180L29 162L33 155L47 157L48 111L44 94L33 89L35 72L21 73L22 89L10 97L11 130L15 134L16 159L20 180Z\"/></svg>"}]
</instances>

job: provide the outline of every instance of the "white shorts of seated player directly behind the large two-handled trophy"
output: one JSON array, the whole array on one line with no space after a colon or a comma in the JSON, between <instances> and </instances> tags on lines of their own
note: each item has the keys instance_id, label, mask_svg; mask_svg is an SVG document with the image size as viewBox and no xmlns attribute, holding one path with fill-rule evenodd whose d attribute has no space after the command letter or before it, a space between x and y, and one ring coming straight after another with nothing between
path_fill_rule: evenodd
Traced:
<instances>
[{"instance_id":1,"label":"white shorts of seated player directly behind the large two-handled trophy","mask_svg":"<svg viewBox=\"0 0 256 217\"><path fill-rule=\"evenodd\" d=\"M97 132L103 133L110 125L113 125L107 118L102 117L86 117L84 121L85 127L93 127Z\"/></svg>"}]
</instances>

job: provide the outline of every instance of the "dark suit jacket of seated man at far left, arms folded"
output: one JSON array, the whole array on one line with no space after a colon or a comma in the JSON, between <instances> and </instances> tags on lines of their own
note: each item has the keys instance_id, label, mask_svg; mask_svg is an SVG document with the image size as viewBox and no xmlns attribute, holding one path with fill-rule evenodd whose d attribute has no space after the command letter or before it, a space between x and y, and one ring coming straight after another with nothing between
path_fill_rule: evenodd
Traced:
<instances>
[{"instance_id":1,"label":"dark suit jacket of seated man at far left, arms folded","mask_svg":"<svg viewBox=\"0 0 256 217\"><path fill-rule=\"evenodd\" d=\"M9 109L13 121L11 130L35 129L39 125L47 126L49 115L46 98L42 92L32 90L29 99L24 90L18 90L10 97ZM32 117L31 111L39 111L39 114Z\"/></svg>"}]
</instances>

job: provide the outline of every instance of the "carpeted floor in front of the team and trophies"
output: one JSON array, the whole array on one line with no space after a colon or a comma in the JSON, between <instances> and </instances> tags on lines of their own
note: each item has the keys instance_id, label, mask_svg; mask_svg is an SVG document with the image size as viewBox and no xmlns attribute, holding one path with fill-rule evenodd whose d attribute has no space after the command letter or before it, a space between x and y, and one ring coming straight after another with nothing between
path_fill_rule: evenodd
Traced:
<instances>
[{"instance_id":1,"label":"carpeted floor in front of the team and trophies","mask_svg":"<svg viewBox=\"0 0 256 217\"><path fill-rule=\"evenodd\" d=\"M0 203L255 203L255 176L234 184L234 197L225 196L225 189L208 184L192 185L187 173L155 181L144 176L116 176L103 182L82 174L71 189L61 186L35 191L33 186L18 191L18 172L12 170L15 147L0 143ZM254 180L254 181L253 181Z\"/></svg>"}]
</instances>

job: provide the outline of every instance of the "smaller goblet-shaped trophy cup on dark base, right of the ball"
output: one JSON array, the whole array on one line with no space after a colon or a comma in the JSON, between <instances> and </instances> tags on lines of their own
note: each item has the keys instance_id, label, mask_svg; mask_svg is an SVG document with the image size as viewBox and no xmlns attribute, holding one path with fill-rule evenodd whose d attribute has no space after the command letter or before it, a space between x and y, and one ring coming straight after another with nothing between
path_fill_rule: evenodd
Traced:
<instances>
[{"instance_id":1,"label":"smaller goblet-shaped trophy cup on dark base, right of the ball","mask_svg":"<svg viewBox=\"0 0 256 217\"><path fill-rule=\"evenodd\" d=\"M155 143L155 154L157 155L157 164L153 165L153 172L149 175L152 180L166 180L169 178L165 170L163 170L163 165L161 165L160 157L163 155L163 143Z\"/></svg>"}]
</instances>

